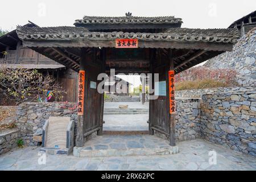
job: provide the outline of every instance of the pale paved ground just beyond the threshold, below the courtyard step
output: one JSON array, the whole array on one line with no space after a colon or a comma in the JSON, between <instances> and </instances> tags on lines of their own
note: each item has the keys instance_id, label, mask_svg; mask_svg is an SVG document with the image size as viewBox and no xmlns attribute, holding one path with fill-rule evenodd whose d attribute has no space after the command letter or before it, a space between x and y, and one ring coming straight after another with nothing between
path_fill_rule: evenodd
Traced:
<instances>
[{"instance_id":1,"label":"pale paved ground just beyond the threshold, below the courtyard step","mask_svg":"<svg viewBox=\"0 0 256 182\"><path fill-rule=\"evenodd\" d=\"M105 131L141 131L148 130L148 114L112 114L104 115Z\"/></svg>"}]
</instances>

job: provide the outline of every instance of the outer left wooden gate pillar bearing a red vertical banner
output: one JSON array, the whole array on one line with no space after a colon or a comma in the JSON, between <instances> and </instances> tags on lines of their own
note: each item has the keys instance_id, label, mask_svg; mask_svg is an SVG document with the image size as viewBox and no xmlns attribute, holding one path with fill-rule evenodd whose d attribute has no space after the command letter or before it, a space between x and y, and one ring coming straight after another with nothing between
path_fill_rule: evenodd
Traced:
<instances>
[{"instance_id":1,"label":"outer left wooden gate pillar bearing a red vertical banner","mask_svg":"<svg viewBox=\"0 0 256 182\"><path fill-rule=\"evenodd\" d=\"M80 70L79 70L79 76L78 76L78 113L77 113L77 135L76 135L76 146L82 147L84 146L84 109L85 109L85 64L86 64L86 49L81 49L81 61L80 61ZM82 75L84 73L84 75ZM84 78L81 78L84 76ZM84 82L81 82L81 80L84 80ZM83 88L81 88L83 86ZM81 108L80 108L81 105ZM82 111L80 112L80 109Z\"/></svg>"}]
</instances>

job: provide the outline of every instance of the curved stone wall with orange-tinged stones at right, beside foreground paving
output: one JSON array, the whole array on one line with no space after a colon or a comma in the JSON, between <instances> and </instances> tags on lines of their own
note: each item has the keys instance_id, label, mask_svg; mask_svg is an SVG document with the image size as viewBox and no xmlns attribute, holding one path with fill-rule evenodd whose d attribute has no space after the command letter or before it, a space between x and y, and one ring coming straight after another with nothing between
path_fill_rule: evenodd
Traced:
<instances>
[{"instance_id":1,"label":"curved stone wall with orange-tinged stones at right, beside foreground paving","mask_svg":"<svg viewBox=\"0 0 256 182\"><path fill-rule=\"evenodd\" d=\"M205 94L201 134L210 142L256 156L256 91Z\"/></svg>"}]
</instances>

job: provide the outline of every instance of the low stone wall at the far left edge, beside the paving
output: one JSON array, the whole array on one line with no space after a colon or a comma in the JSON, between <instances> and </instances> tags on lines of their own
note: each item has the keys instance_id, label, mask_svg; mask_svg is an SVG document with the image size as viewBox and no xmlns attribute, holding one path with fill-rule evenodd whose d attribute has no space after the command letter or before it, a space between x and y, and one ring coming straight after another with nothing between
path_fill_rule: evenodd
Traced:
<instances>
[{"instance_id":1,"label":"low stone wall at the far left edge, beside the paving","mask_svg":"<svg viewBox=\"0 0 256 182\"><path fill-rule=\"evenodd\" d=\"M18 138L18 129L8 129L2 131L0 134L0 155L10 151L12 148L15 148L17 146Z\"/></svg>"}]
</instances>

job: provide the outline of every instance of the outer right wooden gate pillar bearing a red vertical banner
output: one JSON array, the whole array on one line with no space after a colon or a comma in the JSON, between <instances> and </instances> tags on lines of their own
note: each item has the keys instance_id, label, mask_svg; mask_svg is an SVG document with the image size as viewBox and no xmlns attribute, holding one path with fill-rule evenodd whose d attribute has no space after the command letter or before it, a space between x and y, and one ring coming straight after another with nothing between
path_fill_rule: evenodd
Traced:
<instances>
[{"instance_id":1,"label":"outer right wooden gate pillar bearing a red vertical banner","mask_svg":"<svg viewBox=\"0 0 256 182\"><path fill-rule=\"evenodd\" d=\"M166 80L167 85L167 108L170 113L169 117L169 134L170 134L170 146L175 146L175 97L174 97L174 60L172 59L172 49L168 50L168 77ZM173 76L171 76L173 74ZM174 108L174 110L172 110Z\"/></svg>"}]
</instances>

